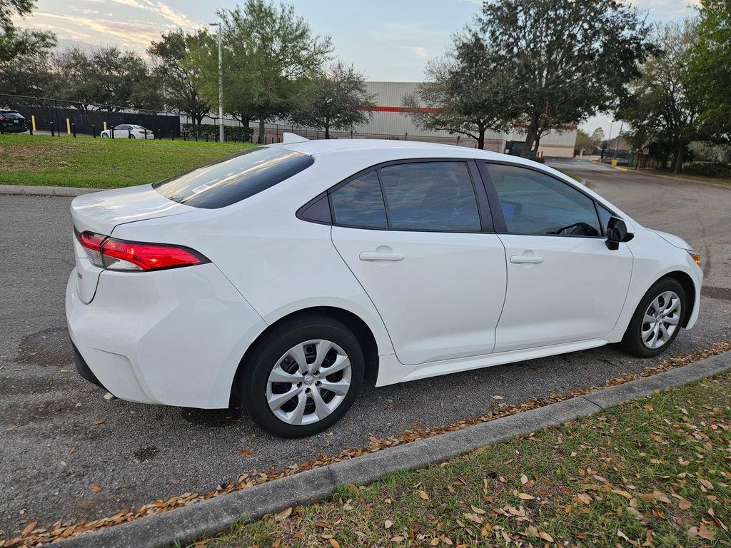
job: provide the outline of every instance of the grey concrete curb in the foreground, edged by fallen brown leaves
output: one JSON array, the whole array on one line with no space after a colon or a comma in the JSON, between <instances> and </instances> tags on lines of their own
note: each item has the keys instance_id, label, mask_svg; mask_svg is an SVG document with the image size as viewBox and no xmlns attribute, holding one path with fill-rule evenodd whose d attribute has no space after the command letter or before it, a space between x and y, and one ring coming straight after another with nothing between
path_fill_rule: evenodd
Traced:
<instances>
[{"instance_id":1,"label":"grey concrete curb in the foreground, edged by fallen brown leaves","mask_svg":"<svg viewBox=\"0 0 731 548\"><path fill-rule=\"evenodd\" d=\"M202 536L222 533L232 523L240 520L256 520L264 514L281 511L289 506L322 501L341 484L368 484L385 473L415 470L442 463L480 446L495 444L540 428L560 425L567 420L650 395L655 390L681 387L727 370L731 370L731 352L585 396L572 397L550 406L383 449L353 460L211 498L185 508L56 541L53 546L160 548L169 547L176 540L181 546L185 546Z\"/></svg>"}]
</instances>

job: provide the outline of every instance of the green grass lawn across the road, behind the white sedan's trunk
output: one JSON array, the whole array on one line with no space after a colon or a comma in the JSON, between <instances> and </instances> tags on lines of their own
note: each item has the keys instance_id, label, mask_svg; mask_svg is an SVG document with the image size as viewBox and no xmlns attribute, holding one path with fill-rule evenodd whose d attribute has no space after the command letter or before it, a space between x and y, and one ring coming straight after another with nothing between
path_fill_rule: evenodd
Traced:
<instances>
[{"instance_id":1,"label":"green grass lawn across the road, behind the white sedan's trunk","mask_svg":"<svg viewBox=\"0 0 731 548\"><path fill-rule=\"evenodd\" d=\"M153 183L249 143L0 135L0 184L112 189Z\"/></svg>"}]
</instances>

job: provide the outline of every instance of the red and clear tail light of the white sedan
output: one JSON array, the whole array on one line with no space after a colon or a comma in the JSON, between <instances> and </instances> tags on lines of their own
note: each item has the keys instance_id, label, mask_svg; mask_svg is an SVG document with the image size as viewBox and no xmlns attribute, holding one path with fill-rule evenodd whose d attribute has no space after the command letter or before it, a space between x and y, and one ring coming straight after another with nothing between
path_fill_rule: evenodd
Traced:
<instances>
[{"instance_id":1,"label":"red and clear tail light of the white sedan","mask_svg":"<svg viewBox=\"0 0 731 548\"><path fill-rule=\"evenodd\" d=\"M164 270L211 262L194 249L167 243L130 242L93 232L77 233L91 263L109 270Z\"/></svg>"}]
</instances>

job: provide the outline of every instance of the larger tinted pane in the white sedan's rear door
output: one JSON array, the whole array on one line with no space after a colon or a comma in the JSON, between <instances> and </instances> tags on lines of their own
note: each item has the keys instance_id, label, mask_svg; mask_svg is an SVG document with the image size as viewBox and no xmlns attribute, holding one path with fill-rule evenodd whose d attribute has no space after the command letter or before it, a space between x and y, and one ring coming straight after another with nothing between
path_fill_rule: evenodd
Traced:
<instances>
[{"instance_id":1,"label":"larger tinted pane in the white sedan's rear door","mask_svg":"<svg viewBox=\"0 0 731 548\"><path fill-rule=\"evenodd\" d=\"M480 214L466 164L425 161L381 169L389 226L479 231Z\"/></svg>"}]
</instances>

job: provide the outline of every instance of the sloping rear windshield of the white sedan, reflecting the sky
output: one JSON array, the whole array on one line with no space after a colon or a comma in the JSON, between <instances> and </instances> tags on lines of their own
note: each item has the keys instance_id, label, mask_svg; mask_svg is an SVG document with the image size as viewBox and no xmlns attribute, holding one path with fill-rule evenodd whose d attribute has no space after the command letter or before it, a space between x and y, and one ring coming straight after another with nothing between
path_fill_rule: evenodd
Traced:
<instances>
[{"instance_id":1,"label":"sloping rear windshield of the white sedan, reflecting the sky","mask_svg":"<svg viewBox=\"0 0 731 548\"><path fill-rule=\"evenodd\" d=\"M284 148L257 147L154 183L168 199L216 209L240 202L310 167L314 159Z\"/></svg>"}]
</instances>

